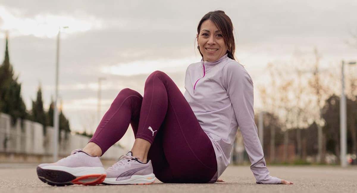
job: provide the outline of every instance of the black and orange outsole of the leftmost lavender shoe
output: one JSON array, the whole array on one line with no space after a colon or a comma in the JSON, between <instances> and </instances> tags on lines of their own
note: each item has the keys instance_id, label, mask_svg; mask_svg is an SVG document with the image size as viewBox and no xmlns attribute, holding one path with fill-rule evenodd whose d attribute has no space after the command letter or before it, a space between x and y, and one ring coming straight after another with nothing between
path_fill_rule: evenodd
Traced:
<instances>
[{"instance_id":1,"label":"black and orange outsole of the leftmost lavender shoe","mask_svg":"<svg viewBox=\"0 0 357 193\"><path fill-rule=\"evenodd\" d=\"M53 186L65 186L65 185L97 185L101 184L106 177L106 174L86 174L75 176L69 172L55 169L43 169L37 167L37 176L39 179Z\"/></svg>"}]
</instances>

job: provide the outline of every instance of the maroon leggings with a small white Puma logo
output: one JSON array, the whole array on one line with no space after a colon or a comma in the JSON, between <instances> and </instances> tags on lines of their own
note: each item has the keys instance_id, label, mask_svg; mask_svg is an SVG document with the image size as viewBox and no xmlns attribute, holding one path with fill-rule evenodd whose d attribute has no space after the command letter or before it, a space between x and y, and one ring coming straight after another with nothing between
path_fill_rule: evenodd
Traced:
<instances>
[{"instance_id":1,"label":"maroon leggings with a small white Puma logo","mask_svg":"<svg viewBox=\"0 0 357 193\"><path fill-rule=\"evenodd\" d=\"M135 90L121 90L90 142L104 154L123 137L129 123L135 138L151 143L148 159L161 182L207 183L217 172L210 139L174 81L162 71L146 79L144 97Z\"/></svg>"}]
</instances>

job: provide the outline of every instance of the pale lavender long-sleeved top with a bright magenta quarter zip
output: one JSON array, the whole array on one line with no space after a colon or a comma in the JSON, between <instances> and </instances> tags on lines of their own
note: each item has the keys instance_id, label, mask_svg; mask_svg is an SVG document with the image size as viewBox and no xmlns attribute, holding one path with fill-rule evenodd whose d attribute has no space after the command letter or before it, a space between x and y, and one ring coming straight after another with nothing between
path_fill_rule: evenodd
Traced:
<instances>
[{"instance_id":1,"label":"pale lavender long-sleeved top with a bright magenta quarter zip","mask_svg":"<svg viewBox=\"0 0 357 193\"><path fill-rule=\"evenodd\" d=\"M185 98L203 131L210 138L217 159L217 179L231 159L238 126L256 183L280 184L266 167L254 122L253 81L245 68L227 54L214 62L190 64L186 70Z\"/></svg>"}]
</instances>

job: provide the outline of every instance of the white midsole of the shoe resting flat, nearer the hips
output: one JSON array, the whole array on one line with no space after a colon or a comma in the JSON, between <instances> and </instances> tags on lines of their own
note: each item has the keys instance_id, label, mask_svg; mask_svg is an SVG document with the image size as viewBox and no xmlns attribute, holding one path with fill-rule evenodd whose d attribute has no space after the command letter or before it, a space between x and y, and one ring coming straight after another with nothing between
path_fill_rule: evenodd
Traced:
<instances>
[{"instance_id":1,"label":"white midsole of the shoe resting flat, nearer the hips","mask_svg":"<svg viewBox=\"0 0 357 193\"><path fill-rule=\"evenodd\" d=\"M146 184L155 182L155 174L148 175L132 175L129 179L116 180L117 178L105 178L104 183L107 184Z\"/></svg>"}]
</instances>

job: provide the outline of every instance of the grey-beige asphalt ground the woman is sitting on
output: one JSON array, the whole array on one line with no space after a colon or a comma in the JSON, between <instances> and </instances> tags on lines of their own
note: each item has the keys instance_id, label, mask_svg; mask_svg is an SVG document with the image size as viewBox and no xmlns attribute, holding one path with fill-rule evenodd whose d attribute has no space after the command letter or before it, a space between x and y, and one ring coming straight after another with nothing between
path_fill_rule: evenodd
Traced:
<instances>
[{"instance_id":1,"label":"grey-beige asphalt ground the woman is sitting on","mask_svg":"<svg viewBox=\"0 0 357 193\"><path fill-rule=\"evenodd\" d=\"M256 184L249 166L230 166L220 177L226 182L214 184L165 184L156 181L150 185L71 185L52 187L41 182L34 164L0 164L0 192L357 192L357 167L342 169L334 166L271 166L273 176L292 181L292 185Z\"/></svg>"}]
</instances>

